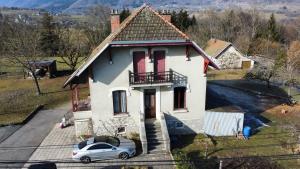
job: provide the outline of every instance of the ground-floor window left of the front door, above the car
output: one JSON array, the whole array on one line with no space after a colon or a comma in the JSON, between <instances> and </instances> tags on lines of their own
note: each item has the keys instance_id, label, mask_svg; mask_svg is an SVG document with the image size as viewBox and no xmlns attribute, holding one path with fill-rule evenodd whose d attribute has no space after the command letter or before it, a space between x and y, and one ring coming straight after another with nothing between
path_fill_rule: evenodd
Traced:
<instances>
[{"instance_id":1,"label":"ground-floor window left of the front door, above the car","mask_svg":"<svg viewBox=\"0 0 300 169\"><path fill-rule=\"evenodd\" d=\"M126 101L125 90L113 91L113 106L114 106L115 114L127 112L127 101Z\"/></svg>"}]
</instances>

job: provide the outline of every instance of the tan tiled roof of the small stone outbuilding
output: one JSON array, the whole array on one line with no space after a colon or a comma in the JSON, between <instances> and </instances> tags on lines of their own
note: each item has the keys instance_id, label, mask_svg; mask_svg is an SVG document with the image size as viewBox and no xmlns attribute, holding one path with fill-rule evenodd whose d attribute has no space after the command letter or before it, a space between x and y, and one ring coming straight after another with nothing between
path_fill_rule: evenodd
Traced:
<instances>
[{"instance_id":1,"label":"tan tiled roof of the small stone outbuilding","mask_svg":"<svg viewBox=\"0 0 300 169\"><path fill-rule=\"evenodd\" d=\"M205 48L205 52L214 57L217 58L227 47L231 45L230 42L225 42L219 39L210 39Z\"/></svg>"}]
</instances>

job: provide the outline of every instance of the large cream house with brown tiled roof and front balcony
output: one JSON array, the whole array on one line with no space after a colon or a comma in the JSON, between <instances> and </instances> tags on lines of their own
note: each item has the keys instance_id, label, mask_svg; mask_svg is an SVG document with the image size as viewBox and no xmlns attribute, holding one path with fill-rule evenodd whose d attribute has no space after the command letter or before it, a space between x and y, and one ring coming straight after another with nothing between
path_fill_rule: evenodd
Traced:
<instances>
[{"instance_id":1,"label":"large cream house with brown tiled roof and front balcony","mask_svg":"<svg viewBox=\"0 0 300 169\"><path fill-rule=\"evenodd\" d=\"M206 70L218 69L213 58L172 25L170 15L146 5L121 24L113 12L111 28L64 84L73 91L77 135L139 133L145 144L148 123L160 126L163 140L168 133L203 132ZM85 82L90 101L78 99L78 84Z\"/></svg>"}]
</instances>

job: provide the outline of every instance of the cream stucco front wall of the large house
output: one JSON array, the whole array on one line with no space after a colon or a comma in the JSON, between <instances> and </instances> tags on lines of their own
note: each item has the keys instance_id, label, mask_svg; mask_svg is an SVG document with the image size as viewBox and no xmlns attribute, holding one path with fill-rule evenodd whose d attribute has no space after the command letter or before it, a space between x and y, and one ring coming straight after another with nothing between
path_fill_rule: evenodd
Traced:
<instances>
[{"instance_id":1,"label":"cream stucco front wall of the large house","mask_svg":"<svg viewBox=\"0 0 300 169\"><path fill-rule=\"evenodd\" d=\"M108 52L104 52L93 63L93 79L90 79L92 120L94 132L112 134L116 126L123 125L127 133L139 131L140 111L143 112L143 88L132 89L129 86L128 71L133 71L132 51L146 48L113 48L113 64L109 64ZM166 50L166 70L170 68L188 77L186 107L188 111L173 111L173 87L156 87L160 91L156 98L160 102L159 109L172 118L166 118L169 128L174 121L181 120L185 128L199 133L203 126L205 114L206 77L203 73L204 59L195 51L191 51L190 61L186 61L185 47L163 47L153 50ZM146 70L153 70L153 63L146 57ZM127 91L128 115L113 115L112 91ZM157 107L159 105L156 105ZM159 117L159 116L157 116ZM171 133L172 134L172 133Z\"/></svg>"}]
</instances>

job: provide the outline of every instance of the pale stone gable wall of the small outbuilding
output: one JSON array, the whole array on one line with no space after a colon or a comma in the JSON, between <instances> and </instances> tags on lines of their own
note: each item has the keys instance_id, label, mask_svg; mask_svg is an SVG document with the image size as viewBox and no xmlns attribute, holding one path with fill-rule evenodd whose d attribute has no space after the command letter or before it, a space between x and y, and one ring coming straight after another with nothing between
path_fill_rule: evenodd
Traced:
<instances>
[{"instance_id":1,"label":"pale stone gable wall of the small outbuilding","mask_svg":"<svg viewBox=\"0 0 300 169\"><path fill-rule=\"evenodd\" d=\"M219 61L222 69L242 68L242 61L250 61L250 59L244 57L233 46L230 46L225 52L223 52L217 60Z\"/></svg>"}]
</instances>

